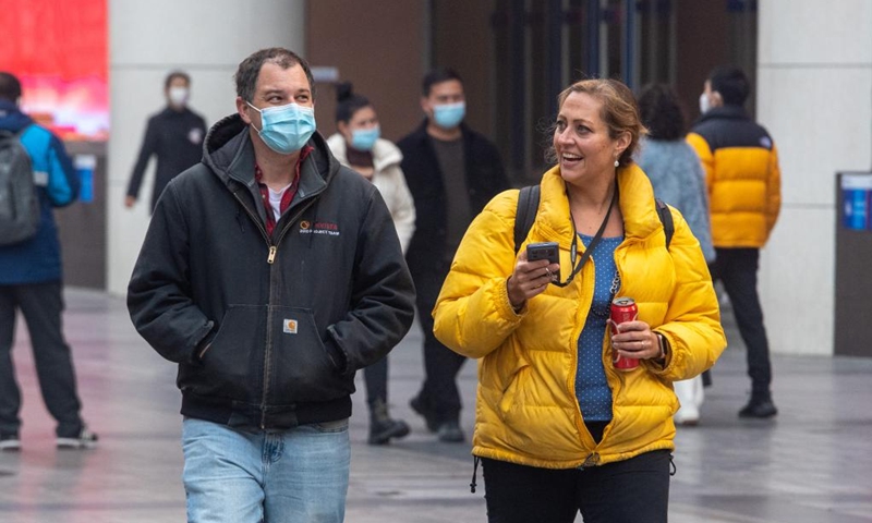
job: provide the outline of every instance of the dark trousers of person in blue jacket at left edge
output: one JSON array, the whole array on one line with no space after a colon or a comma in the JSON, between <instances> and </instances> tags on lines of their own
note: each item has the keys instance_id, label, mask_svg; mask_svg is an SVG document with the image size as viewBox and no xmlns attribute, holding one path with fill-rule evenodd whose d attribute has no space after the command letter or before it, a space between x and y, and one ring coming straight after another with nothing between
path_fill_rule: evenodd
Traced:
<instances>
[{"instance_id":1,"label":"dark trousers of person in blue jacket at left edge","mask_svg":"<svg viewBox=\"0 0 872 523\"><path fill-rule=\"evenodd\" d=\"M16 309L21 309L31 333L39 389L49 414L58 422L57 435L77 437L82 405L70 346L61 332L60 281L0 285L0 431L17 434L21 427L21 390L12 365Z\"/></svg>"}]
</instances>

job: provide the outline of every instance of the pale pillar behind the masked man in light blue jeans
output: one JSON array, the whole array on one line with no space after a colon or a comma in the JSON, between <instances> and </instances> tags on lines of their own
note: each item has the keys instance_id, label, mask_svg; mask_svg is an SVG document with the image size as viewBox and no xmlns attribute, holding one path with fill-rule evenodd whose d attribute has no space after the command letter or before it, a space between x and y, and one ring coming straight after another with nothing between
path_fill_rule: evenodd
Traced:
<instances>
[{"instance_id":1,"label":"pale pillar behind the masked man in light blue jeans","mask_svg":"<svg viewBox=\"0 0 872 523\"><path fill-rule=\"evenodd\" d=\"M124 294L148 227L154 174L149 166L140 202L123 205L149 114L165 106L164 78L191 75L191 107L211 125L235 111L233 73L265 47L305 57L304 0L109 0L111 137L107 187L107 285Z\"/></svg>"}]
</instances>

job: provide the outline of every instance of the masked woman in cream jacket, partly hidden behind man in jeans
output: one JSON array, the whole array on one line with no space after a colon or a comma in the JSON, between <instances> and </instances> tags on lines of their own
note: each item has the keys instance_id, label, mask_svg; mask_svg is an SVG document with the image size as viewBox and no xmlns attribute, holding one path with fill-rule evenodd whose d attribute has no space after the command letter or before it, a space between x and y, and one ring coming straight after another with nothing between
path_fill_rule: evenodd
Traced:
<instances>
[{"instance_id":1,"label":"masked woman in cream jacket, partly hidden behind man in jeans","mask_svg":"<svg viewBox=\"0 0 872 523\"><path fill-rule=\"evenodd\" d=\"M378 188L388 206L403 253L415 230L415 206L400 169L402 153L382 137L378 115L370 100L353 92L351 83L336 86L337 133L327 145L340 163L350 167ZM385 445L409 434L409 425L390 417L388 410L388 358L363 369L370 408L370 445Z\"/></svg>"}]
</instances>

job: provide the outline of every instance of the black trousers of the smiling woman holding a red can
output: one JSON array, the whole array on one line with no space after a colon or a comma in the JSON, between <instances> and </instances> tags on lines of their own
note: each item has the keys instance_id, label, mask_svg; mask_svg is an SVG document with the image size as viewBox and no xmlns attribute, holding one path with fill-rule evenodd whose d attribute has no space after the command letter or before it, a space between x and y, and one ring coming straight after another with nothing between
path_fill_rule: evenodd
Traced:
<instances>
[{"instance_id":1,"label":"black trousers of the smiling woman holding a red can","mask_svg":"<svg viewBox=\"0 0 872 523\"><path fill-rule=\"evenodd\" d=\"M489 523L666 523L668 450L588 469L552 470L482 459Z\"/></svg>"}]
</instances>

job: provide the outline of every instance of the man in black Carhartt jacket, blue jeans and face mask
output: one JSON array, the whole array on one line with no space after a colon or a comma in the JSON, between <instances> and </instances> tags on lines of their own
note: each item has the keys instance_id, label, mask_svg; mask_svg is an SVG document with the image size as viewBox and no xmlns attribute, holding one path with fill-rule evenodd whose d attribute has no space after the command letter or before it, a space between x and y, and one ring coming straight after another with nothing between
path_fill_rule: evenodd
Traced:
<instances>
[{"instance_id":1,"label":"man in black Carhartt jacket, blue jeans and face mask","mask_svg":"<svg viewBox=\"0 0 872 523\"><path fill-rule=\"evenodd\" d=\"M179 364L192 522L344 516L355 370L409 330L414 288L378 190L315 132L312 73L263 49L237 113L173 179L128 292Z\"/></svg>"}]
</instances>

